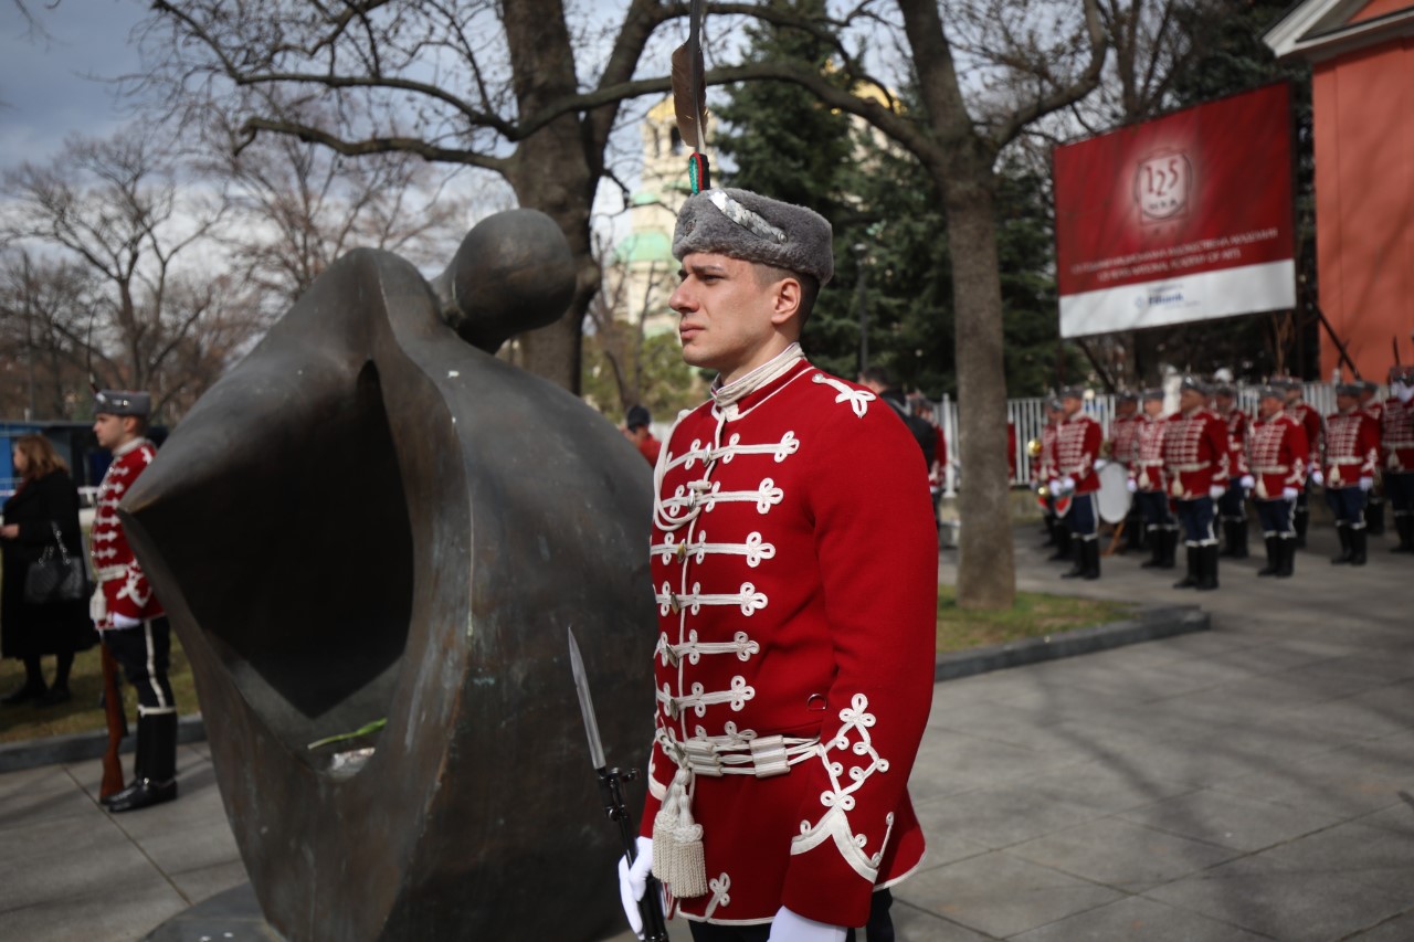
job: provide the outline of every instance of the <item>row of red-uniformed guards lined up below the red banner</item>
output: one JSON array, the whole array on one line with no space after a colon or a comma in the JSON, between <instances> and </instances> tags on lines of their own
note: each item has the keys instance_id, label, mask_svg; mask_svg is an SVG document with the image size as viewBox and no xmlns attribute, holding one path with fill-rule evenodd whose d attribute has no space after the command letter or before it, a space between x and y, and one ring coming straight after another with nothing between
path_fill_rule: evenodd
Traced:
<instances>
[{"instance_id":1,"label":"row of red-uniformed guards lined up below the red banner","mask_svg":"<svg viewBox=\"0 0 1414 942\"><path fill-rule=\"evenodd\" d=\"M1118 393L1109 437L1085 412L1086 390L1062 390L1028 447L1051 559L1073 562L1062 578L1099 578L1097 525L1117 494L1128 504L1126 547L1151 552L1144 569L1174 569L1182 542L1186 570L1174 587L1217 588L1219 556L1249 556L1251 499L1267 549L1257 574L1290 578L1318 488L1340 537L1332 563L1366 563L1386 502L1398 536L1390 550L1414 554L1414 366L1391 368L1389 380L1383 400L1369 380L1338 385L1336 412L1322 417L1298 379L1268 380L1249 416L1233 386L1185 378L1171 416L1161 389Z\"/></svg>"}]
</instances>

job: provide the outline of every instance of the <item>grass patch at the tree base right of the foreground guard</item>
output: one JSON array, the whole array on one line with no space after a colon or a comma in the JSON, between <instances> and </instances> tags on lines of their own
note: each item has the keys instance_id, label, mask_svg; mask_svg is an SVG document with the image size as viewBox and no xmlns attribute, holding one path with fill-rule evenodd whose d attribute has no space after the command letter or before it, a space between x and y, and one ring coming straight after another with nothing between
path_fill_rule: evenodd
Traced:
<instances>
[{"instance_id":1,"label":"grass patch at the tree base right of the foreground guard","mask_svg":"<svg viewBox=\"0 0 1414 942\"><path fill-rule=\"evenodd\" d=\"M1003 611L957 607L953 586L937 587L937 653L1003 645L1008 641L1042 638L1075 628L1103 625L1134 612L1130 603L1017 593L1017 601Z\"/></svg>"}]
</instances>

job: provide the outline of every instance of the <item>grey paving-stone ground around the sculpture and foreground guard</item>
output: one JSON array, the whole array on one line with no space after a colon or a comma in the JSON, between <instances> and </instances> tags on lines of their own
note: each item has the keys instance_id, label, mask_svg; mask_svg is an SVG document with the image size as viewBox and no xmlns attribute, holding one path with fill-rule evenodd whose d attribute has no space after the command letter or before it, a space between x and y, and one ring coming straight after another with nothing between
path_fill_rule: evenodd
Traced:
<instances>
[{"instance_id":1,"label":"grey paving-stone ground around the sculpture and foreground guard","mask_svg":"<svg viewBox=\"0 0 1414 942\"><path fill-rule=\"evenodd\" d=\"M898 938L1414 939L1414 556L1374 537L1331 566L1318 529L1295 578L1225 559L1196 594L1135 556L1062 581L1038 542L1017 530L1021 588L1200 604L1213 628L939 683ZM109 816L98 761L0 775L0 938L141 939L243 884L204 744L180 777L178 802Z\"/></svg>"}]
</instances>

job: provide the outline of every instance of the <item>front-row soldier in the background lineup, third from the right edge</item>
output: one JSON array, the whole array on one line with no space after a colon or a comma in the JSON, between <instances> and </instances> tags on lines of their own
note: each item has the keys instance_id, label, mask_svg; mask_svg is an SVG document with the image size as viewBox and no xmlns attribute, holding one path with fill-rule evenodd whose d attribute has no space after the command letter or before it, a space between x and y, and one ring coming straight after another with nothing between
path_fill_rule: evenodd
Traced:
<instances>
[{"instance_id":1,"label":"front-row soldier in the background lineup, third from the right edge","mask_svg":"<svg viewBox=\"0 0 1414 942\"><path fill-rule=\"evenodd\" d=\"M1267 543L1267 566L1257 570L1257 574L1287 578L1294 571L1297 554L1291 518L1295 513L1297 494L1307 484L1307 457L1311 448L1307 444L1307 430L1282 410L1284 390L1267 386L1260 396L1257 420L1251 424L1247 443L1257 519Z\"/></svg>"}]
</instances>

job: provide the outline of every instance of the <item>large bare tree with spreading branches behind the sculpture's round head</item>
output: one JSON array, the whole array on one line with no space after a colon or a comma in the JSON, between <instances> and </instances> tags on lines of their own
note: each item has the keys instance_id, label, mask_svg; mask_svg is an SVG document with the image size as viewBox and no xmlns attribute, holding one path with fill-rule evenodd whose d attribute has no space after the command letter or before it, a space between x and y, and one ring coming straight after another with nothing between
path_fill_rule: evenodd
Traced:
<instances>
[{"instance_id":1,"label":"large bare tree with spreading branches behind the sculpture's round head","mask_svg":"<svg viewBox=\"0 0 1414 942\"><path fill-rule=\"evenodd\" d=\"M653 31L684 4L628 0L617 31L571 27L561 0L156 0L148 75L180 107L243 117L344 156L409 153L501 175L560 225L578 263L567 315L520 338L527 369L578 386L580 325L601 272L590 218L619 102ZM598 50L580 54L577 48ZM592 82L580 81L594 74ZM310 119L311 102L328 102Z\"/></svg>"}]
</instances>

